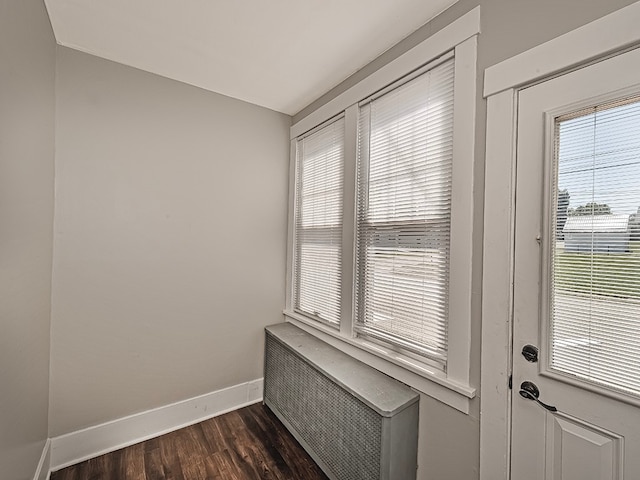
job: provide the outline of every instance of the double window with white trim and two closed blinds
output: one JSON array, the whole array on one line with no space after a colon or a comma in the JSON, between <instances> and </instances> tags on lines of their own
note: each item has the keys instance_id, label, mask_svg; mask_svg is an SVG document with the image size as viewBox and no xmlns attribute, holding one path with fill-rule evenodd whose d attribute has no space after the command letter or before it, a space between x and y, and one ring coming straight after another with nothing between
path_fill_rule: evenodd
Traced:
<instances>
[{"instance_id":1,"label":"double window with white trim and two closed blinds","mask_svg":"<svg viewBox=\"0 0 640 480\"><path fill-rule=\"evenodd\" d=\"M478 28L476 9L291 127L287 320L463 412Z\"/></svg>"}]
</instances>

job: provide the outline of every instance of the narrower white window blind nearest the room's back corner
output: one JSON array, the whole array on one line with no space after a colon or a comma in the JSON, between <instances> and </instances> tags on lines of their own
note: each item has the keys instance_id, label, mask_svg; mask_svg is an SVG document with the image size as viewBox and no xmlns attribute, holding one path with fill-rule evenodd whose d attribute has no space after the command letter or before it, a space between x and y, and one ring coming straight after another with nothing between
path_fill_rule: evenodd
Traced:
<instances>
[{"instance_id":1,"label":"narrower white window blind nearest the room's back corner","mask_svg":"<svg viewBox=\"0 0 640 480\"><path fill-rule=\"evenodd\" d=\"M299 138L296 156L294 308L338 326L344 118Z\"/></svg>"}]
</instances>

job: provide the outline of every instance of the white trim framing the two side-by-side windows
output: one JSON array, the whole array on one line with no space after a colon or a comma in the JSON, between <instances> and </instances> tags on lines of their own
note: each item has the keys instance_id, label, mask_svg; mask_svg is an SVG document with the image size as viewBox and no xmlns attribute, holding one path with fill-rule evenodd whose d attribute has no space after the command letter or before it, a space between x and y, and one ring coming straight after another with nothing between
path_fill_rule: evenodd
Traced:
<instances>
[{"instance_id":1,"label":"white trim framing the two side-by-side windows","mask_svg":"<svg viewBox=\"0 0 640 480\"><path fill-rule=\"evenodd\" d=\"M338 349L397 378L420 392L457 410L469 413L476 388L469 383L471 351L471 278L473 236L473 171L476 113L476 50L480 32L480 7L476 7L397 59L312 112L291 127L289 184L289 247L287 250L287 293L284 314L290 321ZM456 285L449 304L449 351L447 373L385 349L379 344L352 336L354 319L353 272L343 271L343 319L340 331L307 319L293 310L293 249L295 202L296 138L326 120L345 112L347 132L356 131L358 107L362 99L381 90L417 68L455 50L453 198L451 227L450 282ZM353 138L352 138L353 137ZM345 137L345 198L343 264L353 266L356 192L355 136ZM347 299L344 301L344 299Z\"/></svg>"}]
</instances>

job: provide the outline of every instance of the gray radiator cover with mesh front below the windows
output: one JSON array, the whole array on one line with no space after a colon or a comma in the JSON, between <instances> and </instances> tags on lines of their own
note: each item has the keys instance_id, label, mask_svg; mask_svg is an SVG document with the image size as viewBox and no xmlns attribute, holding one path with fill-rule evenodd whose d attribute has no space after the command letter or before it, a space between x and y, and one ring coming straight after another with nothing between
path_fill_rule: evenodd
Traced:
<instances>
[{"instance_id":1,"label":"gray radiator cover with mesh front below the windows","mask_svg":"<svg viewBox=\"0 0 640 480\"><path fill-rule=\"evenodd\" d=\"M419 395L300 328L266 328L264 403L332 480L416 478Z\"/></svg>"}]
</instances>

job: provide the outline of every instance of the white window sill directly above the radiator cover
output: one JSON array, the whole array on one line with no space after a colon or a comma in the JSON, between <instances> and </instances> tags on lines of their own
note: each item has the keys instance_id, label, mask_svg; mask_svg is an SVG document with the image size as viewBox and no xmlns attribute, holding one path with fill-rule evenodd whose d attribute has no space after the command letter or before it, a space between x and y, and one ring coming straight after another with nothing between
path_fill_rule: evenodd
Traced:
<instances>
[{"instance_id":1,"label":"white window sill directly above the radiator cover","mask_svg":"<svg viewBox=\"0 0 640 480\"><path fill-rule=\"evenodd\" d=\"M285 310L283 313L288 322L338 350L460 412L469 413L471 399L476 396L475 388L455 382L442 372L378 345L358 338L343 337L337 330L295 312Z\"/></svg>"}]
</instances>

